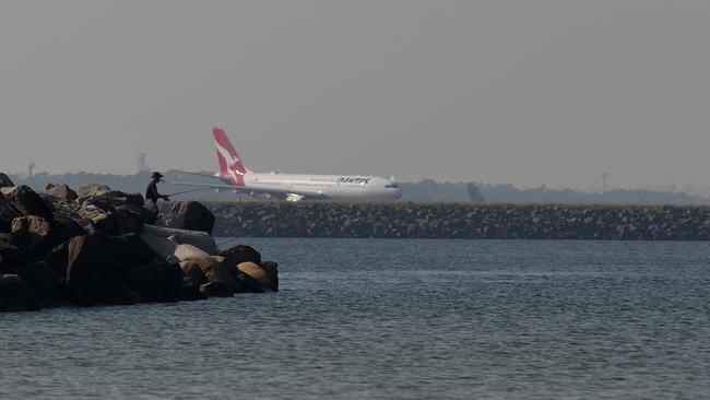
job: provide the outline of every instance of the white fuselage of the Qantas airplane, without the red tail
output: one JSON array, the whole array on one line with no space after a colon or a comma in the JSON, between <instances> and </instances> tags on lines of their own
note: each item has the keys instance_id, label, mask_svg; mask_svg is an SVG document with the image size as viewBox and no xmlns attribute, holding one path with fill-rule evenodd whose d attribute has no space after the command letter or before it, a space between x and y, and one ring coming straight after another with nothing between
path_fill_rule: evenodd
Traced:
<instances>
[{"instance_id":1,"label":"white fuselage of the Qantas airplane, without the red tail","mask_svg":"<svg viewBox=\"0 0 710 400\"><path fill-rule=\"evenodd\" d=\"M292 201L300 200L300 198L382 201L397 200L402 197L402 190L397 183L375 176L248 172L242 177L245 184L242 190L284 193Z\"/></svg>"}]
</instances>

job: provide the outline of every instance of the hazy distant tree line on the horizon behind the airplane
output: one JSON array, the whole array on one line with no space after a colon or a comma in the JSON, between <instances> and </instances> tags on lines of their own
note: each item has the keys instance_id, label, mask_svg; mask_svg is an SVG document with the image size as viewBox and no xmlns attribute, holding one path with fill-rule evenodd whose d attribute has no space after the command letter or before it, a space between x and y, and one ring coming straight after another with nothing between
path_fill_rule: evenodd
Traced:
<instances>
[{"instance_id":1,"label":"hazy distant tree line on the horizon behind the airplane","mask_svg":"<svg viewBox=\"0 0 710 400\"><path fill-rule=\"evenodd\" d=\"M211 174L205 172L203 174ZM67 184L78 188L91 183L103 183L114 189L129 192L144 192L150 180L150 172L135 175L110 175L110 174L63 174L51 175L39 173L32 178L26 176L11 176L11 178L23 185L28 185L36 190L43 190L49 183ZM214 183L213 179L181 175L179 172L170 170L166 174L167 181L190 181L190 183ZM402 201L445 201L466 202L471 201L472 193L477 200L483 198L487 202L502 203L580 203L580 204L678 204L700 205L710 204L710 200L700 196L694 196L682 191L653 191L642 189L613 189L606 192L585 192L573 189L551 189L551 188L517 188L512 185L497 184L473 184L475 191L472 192L471 183L438 183L431 179L424 179L419 183L402 183ZM173 193L189 190L190 187L161 184L163 193ZM477 193L476 193L477 191ZM213 190L197 191L185 195L180 199L196 200L237 200L238 196L232 191L215 192Z\"/></svg>"}]
</instances>

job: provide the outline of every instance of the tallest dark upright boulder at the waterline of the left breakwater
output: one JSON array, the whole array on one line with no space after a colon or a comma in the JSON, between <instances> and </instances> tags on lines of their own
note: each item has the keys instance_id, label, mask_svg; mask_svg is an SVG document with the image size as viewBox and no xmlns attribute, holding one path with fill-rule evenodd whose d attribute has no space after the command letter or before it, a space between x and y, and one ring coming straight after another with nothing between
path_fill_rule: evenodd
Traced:
<instances>
[{"instance_id":1,"label":"tallest dark upright boulder at the waterline of the left breakwater","mask_svg":"<svg viewBox=\"0 0 710 400\"><path fill-rule=\"evenodd\" d=\"M79 236L69 243L67 284L79 304L132 304L108 237Z\"/></svg>"}]
</instances>

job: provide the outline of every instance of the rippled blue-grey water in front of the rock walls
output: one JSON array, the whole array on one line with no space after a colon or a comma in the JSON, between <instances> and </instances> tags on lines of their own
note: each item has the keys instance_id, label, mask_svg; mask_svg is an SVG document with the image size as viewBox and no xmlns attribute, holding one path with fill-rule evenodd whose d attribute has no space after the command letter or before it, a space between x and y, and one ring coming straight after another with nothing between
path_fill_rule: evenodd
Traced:
<instances>
[{"instance_id":1,"label":"rippled blue-grey water in front of the rock walls","mask_svg":"<svg viewBox=\"0 0 710 400\"><path fill-rule=\"evenodd\" d=\"M282 292L0 315L0 398L710 397L710 244L245 242Z\"/></svg>"}]
</instances>

